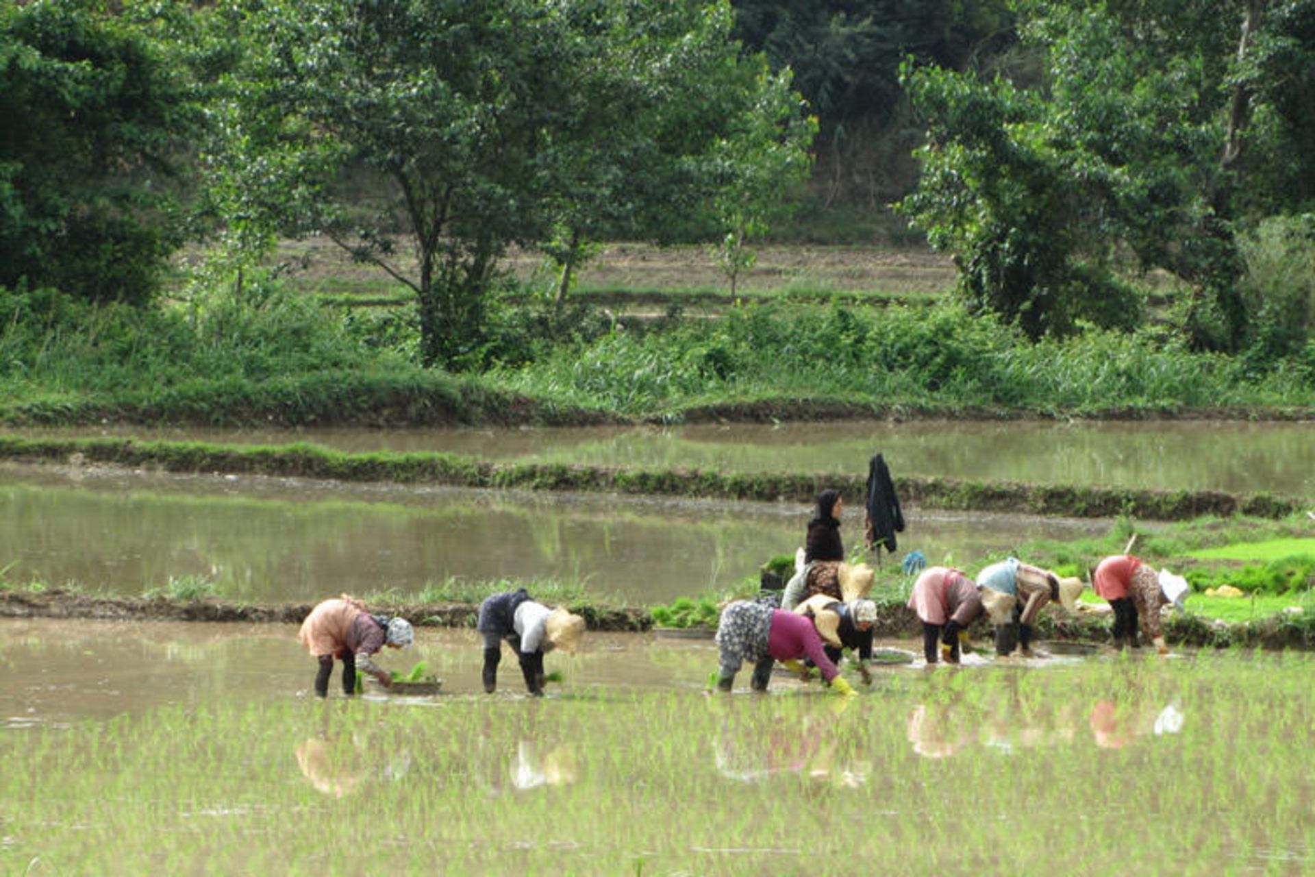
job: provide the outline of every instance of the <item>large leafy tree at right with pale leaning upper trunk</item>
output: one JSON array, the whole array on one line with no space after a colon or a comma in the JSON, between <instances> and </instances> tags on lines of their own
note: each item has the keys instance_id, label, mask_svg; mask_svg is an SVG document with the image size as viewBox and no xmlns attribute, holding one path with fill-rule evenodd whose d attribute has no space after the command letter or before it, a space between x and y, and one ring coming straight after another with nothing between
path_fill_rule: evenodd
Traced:
<instances>
[{"instance_id":1,"label":"large leafy tree at right with pale leaning upper trunk","mask_svg":"<svg viewBox=\"0 0 1315 877\"><path fill-rule=\"evenodd\" d=\"M1310 0L1031 4L1022 37L1044 60L1041 88L906 68L928 139L902 209L955 251L970 302L1034 337L1080 318L1116 325L1127 251L1187 284L1195 344L1240 347L1237 230L1310 191L1310 162L1257 172L1248 160L1310 131L1308 108L1301 118L1273 103L1274 67L1293 66L1264 63L1272 47L1311 45L1294 26L1308 16L1279 5ZM1276 113L1289 122L1257 125Z\"/></svg>"}]
</instances>

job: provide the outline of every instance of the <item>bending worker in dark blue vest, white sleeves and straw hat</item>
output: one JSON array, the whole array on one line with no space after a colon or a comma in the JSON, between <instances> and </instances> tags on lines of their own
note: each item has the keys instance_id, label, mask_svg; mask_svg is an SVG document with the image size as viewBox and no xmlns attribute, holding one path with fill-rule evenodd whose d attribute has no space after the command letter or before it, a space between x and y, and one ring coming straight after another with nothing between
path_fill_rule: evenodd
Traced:
<instances>
[{"instance_id":1,"label":"bending worker in dark blue vest, white sleeves and straw hat","mask_svg":"<svg viewBox=\"0 0 1315 877\"><path fill-rule=\"evenodd\" d=\"M521 588L487 597L480 604L475 625L484 639L484 690L497 690L497 665L502 660L502 640L515 651L525 676L525 688L543 696L543 655L554 648L573 652L584 635L584 618L558 606L548 609Z\"/></svg>"}]
</instances>

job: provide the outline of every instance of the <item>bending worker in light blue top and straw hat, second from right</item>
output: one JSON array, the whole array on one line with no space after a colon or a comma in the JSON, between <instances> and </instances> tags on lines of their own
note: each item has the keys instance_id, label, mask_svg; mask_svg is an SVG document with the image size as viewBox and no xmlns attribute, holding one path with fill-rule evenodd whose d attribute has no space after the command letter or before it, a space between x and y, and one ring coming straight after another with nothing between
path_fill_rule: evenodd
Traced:
<instances>
[{"instance_id":1,"label":"bending worker in light blue top and straw hat, second from right","mask_svg":"<svg viewBox=\"0 0 1315 877\"><path fill-rule=\"evenodd\" d=\"M1032 623L1045 604L1057 600L1076 610L1082 593L1081 579L1060 579L1048 569L1018 557L1006 557L977 573L977 586L986 614L995 627L995 653L1009 655L1018 644L1024 657L1032 657Z\"/></svg>"}]
</instances>

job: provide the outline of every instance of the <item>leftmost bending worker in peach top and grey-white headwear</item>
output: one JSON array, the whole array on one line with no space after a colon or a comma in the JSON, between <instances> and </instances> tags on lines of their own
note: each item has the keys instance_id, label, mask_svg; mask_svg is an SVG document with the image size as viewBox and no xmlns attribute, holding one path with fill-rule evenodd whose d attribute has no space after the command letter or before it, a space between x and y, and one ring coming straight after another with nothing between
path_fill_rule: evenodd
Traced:
<instances>
[{"instance_id":1,"label":"leftmost bending worker in peach top and grey-white headwear","mask_svg":"<svg viewBox=\"0 0 1315 877\"><path fill-rule=\"evenodd\" d=\"M416 634L405 618L371 615L366 604L343 594L326 600L310 610L301 622L297 639L320 660L316 673L316 694L329 696L329 676L333 661L342 661L342 690L345 694L356 692L356 668L377 678L384 686L392 684L388 671L373 661L373 656L384 646L405 648L412 644Z\"/></svg>"}]
</instances>

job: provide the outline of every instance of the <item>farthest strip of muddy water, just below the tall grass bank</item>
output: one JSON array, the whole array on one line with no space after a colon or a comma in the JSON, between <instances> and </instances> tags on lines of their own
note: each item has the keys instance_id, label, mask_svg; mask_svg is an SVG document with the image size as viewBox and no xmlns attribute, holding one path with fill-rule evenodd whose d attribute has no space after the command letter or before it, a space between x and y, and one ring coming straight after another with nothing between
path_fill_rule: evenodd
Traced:
<instances>
[{"instance_id":1,"label":"farthest strip of muddy water, just below the tall grass bank","mask_svg":"<svg viewBox=\"0 0 1315 877\"><path fill-rule=\"evenodd\" d=\"M28 433L34 434L34 433ZM668 429L60 431L343 451L451 451L493 460L867 473L881 452L898 479L944 476L1315 496L1315 423L842 422Z\"/></svg>"}]
</instances>

